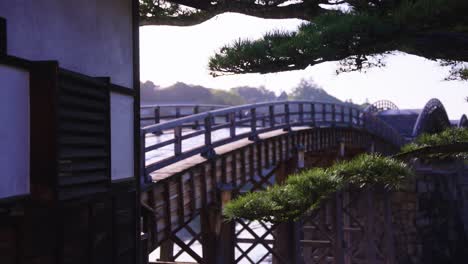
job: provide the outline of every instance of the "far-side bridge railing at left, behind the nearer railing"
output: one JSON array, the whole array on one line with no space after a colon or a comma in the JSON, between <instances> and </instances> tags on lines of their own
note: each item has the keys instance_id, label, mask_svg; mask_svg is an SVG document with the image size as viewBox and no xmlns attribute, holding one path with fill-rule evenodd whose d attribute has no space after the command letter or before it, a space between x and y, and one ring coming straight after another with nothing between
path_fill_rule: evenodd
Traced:
<instances>
[{"instance_id":1,"label":"far-side bridge railing at left, behind the nearer railing","mask_svg":"<svg viewBox=\"0 0 468 264\"><path fill-rule=\"evenodd\" d=\"M155 104L140 107L143 126L228 107L216 104Z\"/></svg>"}]
</instances>

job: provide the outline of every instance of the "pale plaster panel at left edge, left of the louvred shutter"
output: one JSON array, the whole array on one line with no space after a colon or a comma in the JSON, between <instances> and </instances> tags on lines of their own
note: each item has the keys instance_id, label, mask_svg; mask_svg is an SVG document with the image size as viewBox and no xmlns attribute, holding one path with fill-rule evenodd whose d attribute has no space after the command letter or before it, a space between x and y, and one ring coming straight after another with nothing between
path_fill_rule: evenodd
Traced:
<instances>
[{"instance_id":1,"label":"pale plaster panel at left edge, left of the louvred shutter","mask_svg":"<svg viewBox=\"0 0 468 264\"><path fill-rule=\"evenodd\" d=\"M29 73L0 65L0 198L29 193Z\"/></svg>"}]
</instances>

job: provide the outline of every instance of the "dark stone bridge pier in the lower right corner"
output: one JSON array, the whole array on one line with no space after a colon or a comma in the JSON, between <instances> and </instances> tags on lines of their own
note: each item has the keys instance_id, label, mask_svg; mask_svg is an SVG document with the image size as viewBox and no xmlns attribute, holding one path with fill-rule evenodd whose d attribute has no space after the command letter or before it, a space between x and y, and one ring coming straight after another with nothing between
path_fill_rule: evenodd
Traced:
<instances>
[{"instance_id":1,"label":"dark stone bridge pier in the lower right corner","mask_svg":"<svg viewBox=\"0 0 468 264\"><path fill-rule=\"evenodd\" d=\"M416 175L392 197L397 263L468 260L468 168L414 163Z\"/></svg>"}]
</instances>

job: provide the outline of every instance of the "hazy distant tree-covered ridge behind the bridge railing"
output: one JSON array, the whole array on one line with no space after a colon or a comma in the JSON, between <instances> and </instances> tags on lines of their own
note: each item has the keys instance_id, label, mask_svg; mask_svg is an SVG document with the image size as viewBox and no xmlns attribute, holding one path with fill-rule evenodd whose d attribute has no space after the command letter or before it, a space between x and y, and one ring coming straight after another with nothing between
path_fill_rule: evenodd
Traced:
<instances>
[{"instance_id":1,"label":"hazy distant tree-covered ridge behind the bridge railing","mask_svg":"<svg viewBox=\"0 0 468 264\"><path fill-rule=\"evenodd\" d=\"M151 81L140 83L142 104L219 104L240 105L278 100L313 100L327 103L342 103L338 98L328 94L311 81L302 80L289 94L282 92L279 96L265 87L241 86L228 91L190 85L183 82L161 88Z\"/></svg>"}]
</instances>

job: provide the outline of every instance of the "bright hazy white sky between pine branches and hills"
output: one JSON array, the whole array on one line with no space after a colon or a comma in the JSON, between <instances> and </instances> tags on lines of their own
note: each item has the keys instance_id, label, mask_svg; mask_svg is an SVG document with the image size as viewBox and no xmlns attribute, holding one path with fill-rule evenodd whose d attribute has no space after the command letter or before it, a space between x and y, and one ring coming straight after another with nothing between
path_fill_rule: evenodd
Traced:
<instances>
[{"instance_id":1,"label":"bright hazy white sky between pine branches and hills","mask_svg":"<svg viewBox=\"0 0 468 264\"><path fill-rule=\"evenodd\" d=\"M245 74L213 78L208 58L216 50L239 38L256 39L265 32L295 30L297 19L267 20L240 14L223 14L193 27L145 26L140 29L141 80L160 86L177 81L210 88L265 86L277 93L289 91L299 81L313 79L339 99L362 103L388 99L403 108L422 108L431 98L439 98L451 119L468 113L468 83L444 81L448 67L408 54L386 58L387 66L366 73L336 75L336 62L327 62L301 71L274 74Z\"/></svg>"}]
</instances>

